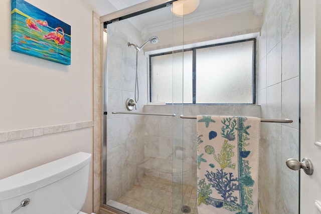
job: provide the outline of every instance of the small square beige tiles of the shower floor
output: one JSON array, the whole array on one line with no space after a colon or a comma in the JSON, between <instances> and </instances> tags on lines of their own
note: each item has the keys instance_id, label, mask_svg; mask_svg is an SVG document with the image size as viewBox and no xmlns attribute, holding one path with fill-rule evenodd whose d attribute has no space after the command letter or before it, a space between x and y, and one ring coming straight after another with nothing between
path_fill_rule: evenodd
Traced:
<instances>
[{"instance_id":1,"label":"small square beige tiles of the shower floor","mask_svg":"<svg viewBox=\"0 0 321 214\"><path fill-rule=\"evenodd\" d=\"M196 186L148 175L140 178L116 201L150 214L182 213L183 204L190 206L190 213L198 214Z\"/></svg>"}]
</instances>

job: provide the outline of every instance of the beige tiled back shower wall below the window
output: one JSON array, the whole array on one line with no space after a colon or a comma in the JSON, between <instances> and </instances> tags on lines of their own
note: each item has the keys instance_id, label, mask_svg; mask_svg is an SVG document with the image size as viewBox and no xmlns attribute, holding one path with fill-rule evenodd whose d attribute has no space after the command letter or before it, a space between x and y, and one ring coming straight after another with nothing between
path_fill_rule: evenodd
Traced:
<instances>
[{"instance_id":1,"label":"beige tiled back shower wall below the window","mask_svg":"<svg viewBox=\"0 0 321 214\"><path fill-rule=\"evenodd\" d=\"M202 105L162 106L146 105L146 113L196 116L231 115L260 117L260 106ZM196 186L197 148L196 120L165 116L145 116L144 167L145 174ZM174 154L173 154L174 153ZM173 174L174 172L174 174ZM174 175L174 176L173 176Z\"/></svg>"}]
</instances>

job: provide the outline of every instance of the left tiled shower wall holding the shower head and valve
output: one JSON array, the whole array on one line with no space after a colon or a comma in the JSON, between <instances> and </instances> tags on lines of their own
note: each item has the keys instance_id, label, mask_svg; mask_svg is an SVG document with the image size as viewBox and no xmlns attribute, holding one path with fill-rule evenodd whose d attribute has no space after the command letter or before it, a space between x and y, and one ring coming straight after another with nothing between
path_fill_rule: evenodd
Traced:
<instances>
[{"instance_id":1,"label":"left tiled shower wall holding the shower head and valve","mask_svg":"<svg viewBox=\"0 0 321 214\"><path fill-rule=\"evenodd\" d=\"M127 43L132 41L113 25L107 26L108 58L108 114L107 114L107 200L117 200L144 174L143 116L111 114L127 111L127 98L134 99L136 49ZM138 55L139 101L142 112L147 103L147 58L143 51Z\"/></svg>"}]
</instances>

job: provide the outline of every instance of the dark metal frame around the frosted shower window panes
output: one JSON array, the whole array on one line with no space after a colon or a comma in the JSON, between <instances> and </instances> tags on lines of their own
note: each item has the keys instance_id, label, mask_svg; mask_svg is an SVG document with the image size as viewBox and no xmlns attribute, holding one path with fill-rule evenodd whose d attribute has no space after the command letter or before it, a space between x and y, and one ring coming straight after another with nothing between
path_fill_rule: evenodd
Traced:
<instances>
[{"instance_id":1,"label":"dark metal frame around the frosted shower window panes","mask_svg":"<svg viewBox=\"0 0 321 214\"><path fill-rule=\"evenodd\" d=\"M215 47L215 46L223 46L223 45L230 45L230 44L235 44L235 43L241 43L241 42L253 42L252 46L252 103L238 103L238 104L229 104L229 103L196 103L196 50L197 49L203 49L203 48L210 48L210 47ZM177 51L170 51L170 52L164 52L164 53L158 53L158 54L151 54L149 55L149 102L151 102L151 58L156 57L156 56L162 56L162 55L169 55L169 54L175 54L175 53L182 53L182 52L188 52L192 51L192 75L193 75L193 82L192 82L192 87L193 87L193 103L166 103L167 105L173 105L173 104L183 104L183 105L255 105L256 104L256 86L257 86L257 68L256 68L256 38L252 39L245 39L245 40L237 40L237 41L232 41L232 42L225 42L225 43L218 43L218 44L213 44L213 45L206 45L206 46L200 46L200 47L195 47L195 48L188 48L188 49L183 49L183 50L177 50Z\"/></svg>"}]
</instances>

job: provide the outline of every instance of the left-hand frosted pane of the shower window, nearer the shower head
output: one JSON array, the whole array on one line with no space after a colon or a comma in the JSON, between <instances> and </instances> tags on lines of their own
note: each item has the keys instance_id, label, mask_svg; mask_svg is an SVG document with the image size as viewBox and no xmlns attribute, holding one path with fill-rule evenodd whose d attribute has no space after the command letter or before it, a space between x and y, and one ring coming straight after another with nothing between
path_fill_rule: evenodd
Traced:
<instances>
[{"instance_id":1,"label":"left-hand frosted pane of the shower window, nearer the shower head","mask_svg":"<svg viewBox=\"0 0 321 214\"><path fill-rule=\"evenodd\" d=\"M152 103L192 103L192 57L192 51L150 57Z\"/></svg>"}]
</instances>

